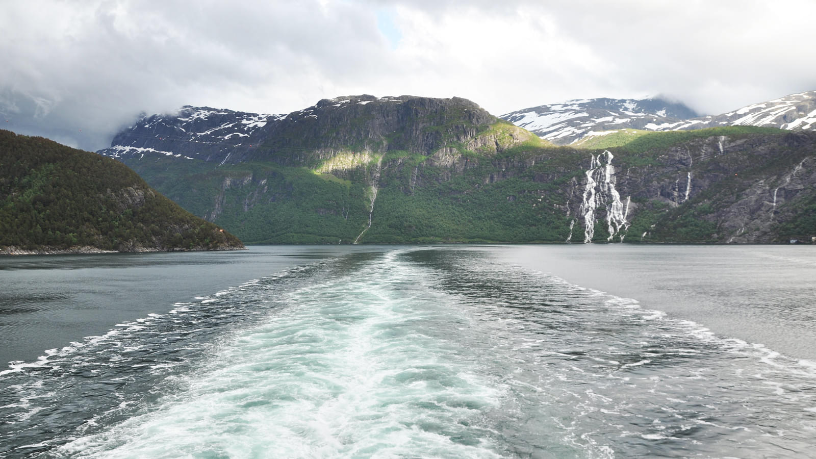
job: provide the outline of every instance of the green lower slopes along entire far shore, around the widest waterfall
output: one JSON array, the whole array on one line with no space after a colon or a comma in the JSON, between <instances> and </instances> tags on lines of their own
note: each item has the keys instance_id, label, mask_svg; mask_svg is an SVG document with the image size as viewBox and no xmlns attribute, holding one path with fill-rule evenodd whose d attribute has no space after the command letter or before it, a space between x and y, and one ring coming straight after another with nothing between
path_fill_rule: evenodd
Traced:
<instances>
[{"instance_id":1,"label":"green lower slopes along entire far shore, around the widest waterfall","mask_svg":"<svg viewBox=\"0 0 816 459\"><path fill-rule=\"evenodd\" d=\"M649 133L610 148L626 241L809 241L813 145L816 136L722 127ZM604 151L453 145L372 153L331 172L164 155L129 164L184 208L251 243L582 242L588 203L596 208L592 241L605 242L611 189L601 183L602 165L593 166L594 194L587 189L590 160Z\"/></svg>"}]
</instances>

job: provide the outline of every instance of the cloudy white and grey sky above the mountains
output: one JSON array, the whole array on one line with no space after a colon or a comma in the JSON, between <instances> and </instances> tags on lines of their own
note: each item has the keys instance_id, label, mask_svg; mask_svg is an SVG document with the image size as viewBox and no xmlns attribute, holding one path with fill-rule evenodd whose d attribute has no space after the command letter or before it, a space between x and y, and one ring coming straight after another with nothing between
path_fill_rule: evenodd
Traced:
<instances>
[{"instance_id":1,"label":"cloudy white and grey sky above the mountains","mask_svg":"<svg viewBox=\"0 0 816 459\"><path fill-rule=\"evenodd\" d=\"M142 113L357 94L721 114L816 89L813 18L814 0L2 0L0 123L93 151Z\"/></svg>"}]
</instances>

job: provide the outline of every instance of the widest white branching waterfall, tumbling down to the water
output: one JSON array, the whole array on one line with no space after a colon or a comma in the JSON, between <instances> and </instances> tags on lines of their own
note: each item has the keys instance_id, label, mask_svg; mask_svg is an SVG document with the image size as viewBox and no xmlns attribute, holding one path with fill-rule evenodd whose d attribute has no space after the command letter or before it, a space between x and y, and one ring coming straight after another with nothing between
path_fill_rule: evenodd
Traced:
<instances>
[{"instance_id":1,"label":"widest white branching waterfall, tumbling down to the water","mask_svg":"<svg viewBox=\"0 0 816 459\"><path fill-rule=\"evenodd\" d=\"M592 155L589 169L584 174L587 176L587 185L583 188L583 199L578 214L583 216L583 243L591 243L595 236L596 216L598 207L605 207L606 228L609 231L607 241L612 241L614 236L619 235L620 241L626 235L629 223L626 220L629 212L631 197L627 198L624 206L620 200L620 194L615 189L614 166L612 159L614 155L606 150L599 154L597 158ZM572 227L575 221L570 224L570 237L572 238Z\"/></svg>"}]
</instances>

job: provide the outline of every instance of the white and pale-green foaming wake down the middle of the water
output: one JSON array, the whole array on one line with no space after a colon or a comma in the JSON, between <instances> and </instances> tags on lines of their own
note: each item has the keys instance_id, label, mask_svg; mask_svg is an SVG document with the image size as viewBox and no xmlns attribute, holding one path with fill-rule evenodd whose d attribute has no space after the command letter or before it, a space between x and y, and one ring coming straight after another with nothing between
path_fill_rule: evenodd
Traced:
<instances>
[{"instance_id":1,"label":"white and pale-green foaming wake down the middle of the water","mask_svg":"<svg viewBox=\"0 0 816 459\"><path fill-rule=\"evenodd\" d=\"M462 359L438 294L393 261L290 292L224 341L188 390L74 440L74 457L500 457L483 410L503 387ZM466 324L462 328L468 328Z\"/></svg>"}]
</instances>

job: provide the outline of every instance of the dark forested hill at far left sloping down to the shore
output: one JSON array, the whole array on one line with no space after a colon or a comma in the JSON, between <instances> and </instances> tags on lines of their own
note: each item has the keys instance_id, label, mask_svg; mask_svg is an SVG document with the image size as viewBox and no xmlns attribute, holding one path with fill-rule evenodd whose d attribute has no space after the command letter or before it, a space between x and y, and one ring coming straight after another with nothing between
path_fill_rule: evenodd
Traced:
<instances>
[{"instance_id":1,"label":"dark forested hill at far left sloping down to the shore","mask_svg":"<svg viewBox=\"0 0 816 459\"><path fill-rule=\"evenodd\" d=\"M110 158L0 131L0 250L242 247Z\"/></svg>"}]
</instances>

